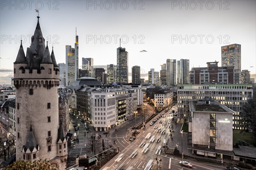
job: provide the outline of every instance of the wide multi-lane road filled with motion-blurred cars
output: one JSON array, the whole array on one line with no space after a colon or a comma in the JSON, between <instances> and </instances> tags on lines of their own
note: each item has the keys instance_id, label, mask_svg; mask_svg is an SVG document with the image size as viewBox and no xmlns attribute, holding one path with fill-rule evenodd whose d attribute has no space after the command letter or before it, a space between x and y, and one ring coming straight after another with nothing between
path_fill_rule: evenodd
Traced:
<instances>
[{"instance_id":1,"label":"wide multi-lane road filled with motion-blurred cars","mask_svg":"<svg viewBox=\"0 0 256 170\"><path fill-rule=\"evenodd\" d=\"M132 123L134 123L134 121L131 120L130 122L129 121L125 122L124 125L120 127L120 129L114 132L111 136L111 140L113 139L116 141L115 145L116 147L118 146L120 148L120 152L115 158L113 158L111 161L105 164L105 166L102 167L102 169L116 170L122 167L121 168L122 170L126 170L128 169L128 167L130 167L132 170L144 170L150 159L153 159L153 163L151 164L151 170L180 169L181 168L181 165L179 164L180 158L170 157L170 155L165 154L163 150L164 140L166 142L167 140L170 140L171 133L169 131L169 126L170 125L172 127L175 126L175 122L172 121L172 116L171 116L171 113L169 113L169 111L167 113L163 111L162 113L164 113L164 116L158 119L157 122L154 123L154 125L149 125L150 122L148 122L146 124L145 130L139 130L140 133L138 134L138 137L134 142L129 142L127 140L128 138L122 135L124 134L124 131L127 131L126 128L129 127ZM160 114L161 113L157 114L155 118ZM159 123L160 121L162 121L162 123ZM152 136L154 136L154 140ZM145 140L144 144L142 144L143 140ZM157 155L156 152L159 147L161 148L161 153L160 155L159 154ZM137 150L137 152L135 152L136 155L133 154L135 150ZM122 156L120 161L117 160L118 156ZM159 162L158 166L157 166L156 157L158 159L158 162L160 159L162 160L161 162ZM221 167L220 168L210 167L205 164L200 164L197 162L192 162L192 164L193 164L192 168L183 166L183 170L187 170L187 169L219 170L221 169Z\"/></svg>"}]
</instances>

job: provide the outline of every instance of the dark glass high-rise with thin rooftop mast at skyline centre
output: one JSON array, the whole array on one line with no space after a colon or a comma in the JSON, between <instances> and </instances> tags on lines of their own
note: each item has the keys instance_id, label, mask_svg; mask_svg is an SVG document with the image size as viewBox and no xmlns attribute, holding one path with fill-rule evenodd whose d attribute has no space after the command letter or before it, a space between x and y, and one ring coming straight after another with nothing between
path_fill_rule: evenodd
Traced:
<instances>
[{"instance_id":1,"label":"dark glass high-rise with thin rooftop mast at skyline centre","mask_svg":"<svg viewBox=\"0 0 256 170\"><path fill-rule=\"evenodd\" d=\"M128 83L128 52L119 47L117 51L116 82Z\"/></svg>"}]
</instances>

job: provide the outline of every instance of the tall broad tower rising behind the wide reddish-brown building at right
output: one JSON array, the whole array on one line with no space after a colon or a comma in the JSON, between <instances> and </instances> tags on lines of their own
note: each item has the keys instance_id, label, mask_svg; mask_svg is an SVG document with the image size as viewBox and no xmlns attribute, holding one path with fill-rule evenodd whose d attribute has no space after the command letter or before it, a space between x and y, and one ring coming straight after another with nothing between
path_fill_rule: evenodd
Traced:
<instances>
[{"instance_id":1,"label":"tall broad tower rising behind the wide reddish-brown building at right","mask_svg":"<svg viewBox=\"0 0 256 170\"><path fill-rule=\"evenodd\" d=\"M221 47L221 66L234 66L241 71L241 45L231 44Z\"/></svg>"}]
</instances>

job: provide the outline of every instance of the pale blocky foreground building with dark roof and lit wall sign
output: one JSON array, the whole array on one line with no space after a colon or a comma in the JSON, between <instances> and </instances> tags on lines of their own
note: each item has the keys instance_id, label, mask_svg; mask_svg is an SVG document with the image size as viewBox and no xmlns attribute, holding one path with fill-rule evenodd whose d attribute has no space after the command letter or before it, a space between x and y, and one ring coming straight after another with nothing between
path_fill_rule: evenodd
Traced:
<instances>
[{"instance_id":1,"label":"pale blocky foreground building with dark roof and lit wall sign","mask_svg":"<svg viewBox=\"0 0 256 170\"><path fill-rule=\"evenodd\" d=\"M188 149L200 156L231 158L233 153L232 119L234 111L213 100L189 101Z\"/></svg>"}]
</instances>

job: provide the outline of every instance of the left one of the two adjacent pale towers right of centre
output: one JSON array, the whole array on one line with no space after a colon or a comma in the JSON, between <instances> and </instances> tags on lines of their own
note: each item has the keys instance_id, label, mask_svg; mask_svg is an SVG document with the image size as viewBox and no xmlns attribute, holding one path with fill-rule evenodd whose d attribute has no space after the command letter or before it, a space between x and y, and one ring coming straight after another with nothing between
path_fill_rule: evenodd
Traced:
<instances>
[{"instance_id":1,"label":"left one of the two adjacent pale towers right of centre","mask_svg":"<svg viewBox=\"0 0 256 170\"><path fill-rule=\"evenodd\" d=\"M166 59L166 85L176 85L176 59Z\"/></svg>"}]
</instances>

